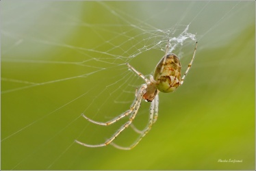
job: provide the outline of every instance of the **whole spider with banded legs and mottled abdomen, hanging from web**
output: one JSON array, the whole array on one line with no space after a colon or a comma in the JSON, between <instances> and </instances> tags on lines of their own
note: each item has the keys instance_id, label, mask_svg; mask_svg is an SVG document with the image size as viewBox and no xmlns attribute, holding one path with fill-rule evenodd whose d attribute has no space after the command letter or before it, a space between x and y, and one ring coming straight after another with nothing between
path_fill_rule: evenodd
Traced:
<instances>
[{"instance_id":1,"label":"whole spider with banded legs and mottled abdomen, hanging from web","mask_svg":"<svg viewBox=\"0 0 256 171\"><path fill-rule=\"evenodd\" d=\"M106 140L102 144L95 144L95 145L90 145L90 144L85 144L83 142L79 142L75 140L78 144L81 144L83 146L88 146L88 147L100 147L100 146L107 146L108 144L111 144L112 146L122 149L122 150L130 150L131 148L135 147L140 140L142 140L142 137L148 133L152 127L152 125L155 123L157 120L158 116L158 104L159 104L159 97L158 93L159 92L173 92L175 91L179 86L183 84L183 81L185 79L185 76L188 74L188 71L190 70L190 67L192 66L192 62L194 61L194 56L196 53L196 45L194 47L194 53L192 55L192 60L190 61L190 64L188 64L187 70L185 70L185 73L183 74L183 77L181 78L181 63L179 62L179 58L177 55L173 53L168 53L169 51L169 40L166 45L166 53L164 57L159 61L157 66L155 67L155 73L154 76L150 75L149 79L147 79L142 73L138 72L133 66L127 63L127 66L129 69L131 69L134 73L136 73L138 76L140 76L146 83L142 84L142 86L137 90L136 89L136 94L135 94L135 100L133 101L131 107L129 110L125 111L123 114L120 114L116 118L109 120L107 122L97 122L94 121L84 114L82 116L86 118L86 120L94 123L94 124L100 124L103 126L108 126L110 124L114 124L121 118L124 118L125 116L129 116L129 121L125 122L112 137L110 137L109 140ZM142 131L136 129L136 127L132 124L134 118L136 118L136 115L138 113L138 110L140 108L140 103L142 102L142 99L144 99L147 102L151 103L150 107L150 115L149 115L149 122L146 126L146 128ZM140 137L131 144L131 146L128 147L123 147L123 146L118 146L117 144L114 144L114 140L116 137L127 127L131 126L131 128L136 131L137 133L140 133Z\"/></svg>"}]
</instances>

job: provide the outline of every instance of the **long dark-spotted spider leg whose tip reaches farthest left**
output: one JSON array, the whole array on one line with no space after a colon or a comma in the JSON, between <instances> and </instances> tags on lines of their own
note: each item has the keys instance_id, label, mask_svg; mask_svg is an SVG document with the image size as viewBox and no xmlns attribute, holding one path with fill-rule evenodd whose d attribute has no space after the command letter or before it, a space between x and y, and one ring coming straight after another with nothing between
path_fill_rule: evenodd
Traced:
<instances>
[{"instance_id":1,"label":"long dark-spotted spider leg whose tip reaches farthest left","mask_svg":"<svg viewBox=\"0 0 256 171\"><path fill-rule=\"evenodd\" d=\"M140 103L142 101L142 96L144 94L144 89L146 88L146 86L142 86L137 94L137 100L138 103L136 105L136 107L134 107L133 111L131 112L131 117L129 118L129 121L126 122L125 124L123 124L122 127L120 127L120 129L114 133L114 135L112 135L112 137L110 137L109 140L107 140L106 142L104 142L103 144L95 144L95 145L90 145L90 144L85 144L83 142L79 142L77 140L75 140L75 142L77 142L78 144L81 144L83 146L88 146L88 147L100 147L100 146L107 146L108 144L110 144L113 140L116 139L116 137L123 132L125 129L127 129L127 127L129 127L129 125L131 124L131 122L134 120L134 118L136 117L138 110L140 108Z\"/></svg>"}]
</instances>

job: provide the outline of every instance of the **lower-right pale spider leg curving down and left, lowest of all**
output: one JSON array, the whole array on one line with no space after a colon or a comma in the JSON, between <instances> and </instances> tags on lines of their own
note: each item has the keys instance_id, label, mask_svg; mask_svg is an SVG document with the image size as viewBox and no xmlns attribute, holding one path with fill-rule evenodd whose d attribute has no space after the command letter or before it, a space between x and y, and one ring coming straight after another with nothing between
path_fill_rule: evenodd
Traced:
<instances>
[{"instance_id":1,"label":"lower-right pale spider leg curving down and left, lowest of all","mask_svg":"<svg viewBox=\"0 0 256 171\"><path fill-rule=\"evenodd\" d=\"M111 145L118 149L121 149L121 150L131 150L131 148L134 148L140 142L140 140L142 140L142 138L146 135L146 133L149 133L152 125L157 120L158 104L159 104L158 99L159 99L159 97L157 94L157 96L155 96L155 99L151 102L149 124L144 129L144 131L141 131L142 133L141 133L140 137L138 137L138 139L135 142L133 142L133 144L131 146L129 146L129 147L118 146L117 144L114 144L113 142L111 143Z\"/></svg>"}]
</instances>

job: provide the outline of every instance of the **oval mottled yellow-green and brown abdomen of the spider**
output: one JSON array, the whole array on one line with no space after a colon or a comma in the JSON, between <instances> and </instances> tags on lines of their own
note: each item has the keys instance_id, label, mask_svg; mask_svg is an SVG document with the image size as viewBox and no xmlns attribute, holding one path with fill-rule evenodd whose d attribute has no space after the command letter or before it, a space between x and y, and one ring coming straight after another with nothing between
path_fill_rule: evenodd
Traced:
<instances>
[{"instance_id":1,"label":"oval mottled yellow-green and brown abdomen of the spider","mask_svg":"<svg viewBox=\"0 0 256 171\"><path fill-rule=\"evenodd\" d=\"M164 62L165 60L165 62ZM173 92L180 85L181 63L177 55L170 53L155 67L154 79L160 92Z\"/></svg>"}]
</instances>

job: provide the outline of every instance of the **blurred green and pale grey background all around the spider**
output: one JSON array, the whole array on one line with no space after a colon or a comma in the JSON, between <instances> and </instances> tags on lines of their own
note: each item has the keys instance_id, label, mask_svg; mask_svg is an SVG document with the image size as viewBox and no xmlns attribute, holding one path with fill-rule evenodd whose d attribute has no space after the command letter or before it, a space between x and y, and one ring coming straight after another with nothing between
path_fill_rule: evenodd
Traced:
<instances>
[{"instance_id":1,"label":"blurred green and pale grey background all around the spider","mask_svg":"<svg viewBox=\"0 0 256 171\"><path fill-rule=\"evenodd\" d=\"M255 170L255 1L0 5L1 170ZM76 144L102 143L127 120L102 127L81 114L106 121L129 109L143 81L125 62L149 77L167 38L189 24L194 64L183 86L159 94L140 144ZM183 72L193 51L192 40L173 51ZM134 124L148 117L143 102ZM127 129L115 142L137 137Z\"/></svg>"}]
</instances>

